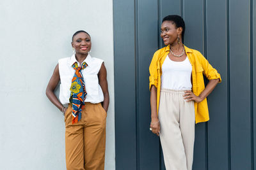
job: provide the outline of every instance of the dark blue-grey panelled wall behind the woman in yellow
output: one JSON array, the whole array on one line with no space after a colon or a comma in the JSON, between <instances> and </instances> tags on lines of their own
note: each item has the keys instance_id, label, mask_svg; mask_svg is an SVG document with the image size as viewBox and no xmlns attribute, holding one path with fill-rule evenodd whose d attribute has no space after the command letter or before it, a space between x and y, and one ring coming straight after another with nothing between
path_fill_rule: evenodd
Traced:
<instances>
[{"instance_id":1,"label":"dark blue-grey panelled wall behind the woman in yellow","mask_svg":"<svg viewBox=\"0 0 256 170\"><path fill-rule=\"evenodd\" d=\"M208 97L210 121L196 125L193 169L254 169L255 0L113 0L116 169L164 169L150 124L148 66L163 46L161 19L184 17L184 44L202 52L222 83ZM253 67L254 66L254 67Z\"/></svg>"}]
</instances>

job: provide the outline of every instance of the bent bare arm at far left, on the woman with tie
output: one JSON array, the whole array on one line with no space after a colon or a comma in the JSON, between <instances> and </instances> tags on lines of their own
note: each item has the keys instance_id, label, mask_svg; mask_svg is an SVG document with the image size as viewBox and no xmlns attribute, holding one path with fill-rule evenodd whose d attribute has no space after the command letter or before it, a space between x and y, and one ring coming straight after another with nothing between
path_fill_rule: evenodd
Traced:
<instances>
[{"instance_id":1,"label":"bent bare arm at far left, on the woman with tie","mask_svg":"<svg viewBox=\"0 0 256 170\"><path fill-rule=\"evenodd\" d=\"M51 79L46 87L45 94L49 98L52 104L54 104L60 111L63 105L60 103L56 95L54 94L54 89L57 87L60 81L59 65L55 67Z\"/></svg>"}]
</instances>

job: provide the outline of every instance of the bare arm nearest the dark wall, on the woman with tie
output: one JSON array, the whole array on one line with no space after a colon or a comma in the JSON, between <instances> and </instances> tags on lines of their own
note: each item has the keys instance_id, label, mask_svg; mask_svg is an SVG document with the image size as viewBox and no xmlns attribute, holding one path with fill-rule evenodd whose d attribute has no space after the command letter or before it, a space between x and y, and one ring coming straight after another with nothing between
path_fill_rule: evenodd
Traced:
<instances>
[{"instance_id":1,"label":"bare arm nearest the dark wall, on the woman with tie","mask_svg":"<svg viewBox=\"0 0 256 170\"><path fill-rule=\"evenodd\" d=\"M102 103L102 107L104 108L104 110L108 111L109 93L108 93L107 70L106 70L106 67L104 66L104 62L100 67L98 77L99 77L99 84L104 95L104 101Z\"/></svg>"}]
</instances>

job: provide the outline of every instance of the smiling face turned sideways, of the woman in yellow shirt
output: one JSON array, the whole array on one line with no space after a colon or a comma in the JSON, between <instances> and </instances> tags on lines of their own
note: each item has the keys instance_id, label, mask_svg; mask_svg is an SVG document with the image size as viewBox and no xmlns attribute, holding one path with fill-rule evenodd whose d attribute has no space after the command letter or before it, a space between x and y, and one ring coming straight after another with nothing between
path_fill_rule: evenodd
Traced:
<instances>
[{"instance_id":1,"label":"smiling face turned sideways, of the woman in yellow shirt","mask_svg":"<svg viewBox=\"0 0 256 170\"><path fill-rule=\"evenodd\" d=\"M179 36L181 39L182 27L177 28L175 23L169 20L165 20L161 25L161 38L163 38L164 45L174 45L177 43Z\"/></svg>"}]
</instances>

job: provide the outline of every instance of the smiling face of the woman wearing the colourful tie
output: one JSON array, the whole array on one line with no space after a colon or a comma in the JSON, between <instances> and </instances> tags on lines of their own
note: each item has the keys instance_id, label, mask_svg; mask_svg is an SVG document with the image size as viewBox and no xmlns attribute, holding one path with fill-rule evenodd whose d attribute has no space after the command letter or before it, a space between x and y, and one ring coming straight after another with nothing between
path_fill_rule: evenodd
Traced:
<instances>
[{"instance_id":1,"label":"smiling face of the woman wearing the colourful tie","mask_svg":"<svg viewBox=\"0 0 256 170\"><path fill-rule=\"evenodd\" d=\"M74 36L71 45L76 50L76 53L84 55L90 52L92 42L88 34L85 32L80 32Z\"/></svg>"}]
</instances>

